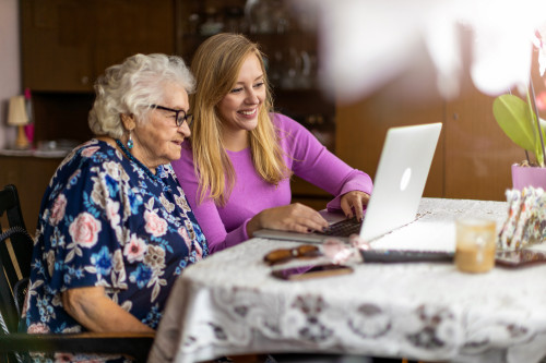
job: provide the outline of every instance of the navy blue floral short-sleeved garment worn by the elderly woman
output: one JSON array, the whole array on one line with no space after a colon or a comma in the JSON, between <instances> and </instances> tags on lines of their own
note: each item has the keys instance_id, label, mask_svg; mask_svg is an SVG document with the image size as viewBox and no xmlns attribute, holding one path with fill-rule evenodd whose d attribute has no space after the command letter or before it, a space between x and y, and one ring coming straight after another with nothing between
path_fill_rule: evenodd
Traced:
<instances>
[{"instance_id":1,"label":"navy blue floral short-sleeved garment worn by the elderly woman","mask_svg":"<svg viewBox=\"0 0 546 363\"><path fill-rule=\"evenodd\" d=\"M98 140L61 162L41 201L23 329L85 331L61 293L93 286L157 327L177 276L209 249L170 165L152 177Z\"/></svg>"}]
</instances>

